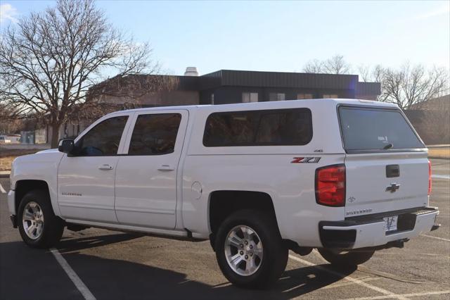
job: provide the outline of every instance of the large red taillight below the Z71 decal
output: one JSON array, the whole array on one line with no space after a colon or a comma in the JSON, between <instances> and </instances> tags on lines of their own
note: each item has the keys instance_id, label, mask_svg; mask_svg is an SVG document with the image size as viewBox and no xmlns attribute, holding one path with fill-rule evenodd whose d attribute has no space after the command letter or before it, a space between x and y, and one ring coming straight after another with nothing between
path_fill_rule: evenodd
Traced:
<instances>
[{"instance_id":1,"label":"large red taillight below the Z71 decal","mask_svg":"<svg viewBox=\"0 0 450 300\"><path fill-rule=\"evenodd\" d=\"M345 206L345 165L316 169L316 202L326 206Z\"/></svg>"}]
</instances>

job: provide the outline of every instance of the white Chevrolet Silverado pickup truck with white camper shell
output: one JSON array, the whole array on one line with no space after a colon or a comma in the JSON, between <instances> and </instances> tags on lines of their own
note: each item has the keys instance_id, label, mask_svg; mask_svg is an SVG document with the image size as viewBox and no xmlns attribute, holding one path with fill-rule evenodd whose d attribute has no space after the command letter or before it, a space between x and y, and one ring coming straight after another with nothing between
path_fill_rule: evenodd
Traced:
<instances>
[{"instance_id":1,"label":"white Chevrolet Silverado pickup truck with white camper shell","mask_svg":"<svg viewBox=\"0 0 450 300\"><path fill-rule=\"evenodd\" d=\"M267 287L288 249L357 265L437 229L430 190L397 106L315 99L110 113L16 158L8 206L30 246L66 226L209 239L228 280Z\"/></svg>"}]
</instances>

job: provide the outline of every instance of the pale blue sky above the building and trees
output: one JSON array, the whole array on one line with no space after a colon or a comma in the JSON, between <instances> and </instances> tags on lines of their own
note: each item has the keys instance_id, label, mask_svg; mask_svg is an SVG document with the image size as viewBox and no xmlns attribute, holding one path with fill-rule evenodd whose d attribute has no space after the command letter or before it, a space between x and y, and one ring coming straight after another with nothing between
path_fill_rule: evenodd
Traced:
<instances>
[{"instance_id":1,"label":"pale blue sky above the building and trees","mask_svg":"<svg viewBox=\"0 0 450 300\"><path fill-rule=\"evenodd\" d=\"M53 1L0 0L0 27ZM301 72L343 55L358 65L450 68L450 1L107 1L113 26L150 42L163 70Z\"/></svg>"}]
</instances>

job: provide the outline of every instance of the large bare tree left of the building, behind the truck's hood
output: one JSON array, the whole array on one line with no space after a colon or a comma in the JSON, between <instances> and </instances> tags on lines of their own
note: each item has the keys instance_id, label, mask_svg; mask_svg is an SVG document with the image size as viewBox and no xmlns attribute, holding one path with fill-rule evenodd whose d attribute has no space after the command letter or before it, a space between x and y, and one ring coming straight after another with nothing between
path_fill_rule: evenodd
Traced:
<instances>
[{"instance_id":1,"label":"large bare tree left of the building, behind the truck's hood","mask_svg":"<svg viewBox=\"0 0 450 300\"><path fill-rule=\"evenodd\" d=\"M98 108L98 89L87 95L105 74L116 73L117 82L156 70L150 46L115 30L91 0L58 0L1 33L0 102L46 120L52 147L61 124Z\"/></svg>"}]
</instances>

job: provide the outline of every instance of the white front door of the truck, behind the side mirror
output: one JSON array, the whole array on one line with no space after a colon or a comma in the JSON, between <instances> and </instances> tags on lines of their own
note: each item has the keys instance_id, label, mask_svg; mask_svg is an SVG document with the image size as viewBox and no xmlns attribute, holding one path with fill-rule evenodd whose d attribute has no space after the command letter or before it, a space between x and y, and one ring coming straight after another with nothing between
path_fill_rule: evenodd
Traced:
<instances>
[{"instance_id":1,"label":"white front door of the truck, behind the side mirror","mask_svg":"<svg viewBox=\"0 0 450 300\"><path fill-rule=\"evenodd\" d=\"M63 217L117 223L114 180L130 114L94 124L75 142L74 154L64 154L58 168L58 204ZM123 135L123 137L122 137Z\"/></svg>"}]
</instances>

